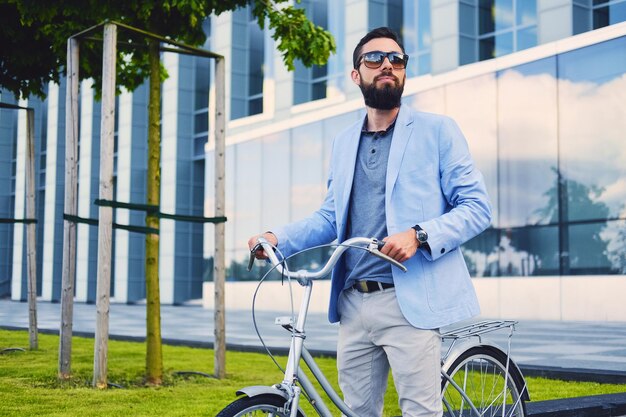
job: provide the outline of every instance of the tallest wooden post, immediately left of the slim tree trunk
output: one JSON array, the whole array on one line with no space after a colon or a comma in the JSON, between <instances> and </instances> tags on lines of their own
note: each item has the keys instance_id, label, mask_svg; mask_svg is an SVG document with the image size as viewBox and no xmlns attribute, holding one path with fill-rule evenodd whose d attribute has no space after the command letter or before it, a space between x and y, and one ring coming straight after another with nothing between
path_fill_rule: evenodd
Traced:
<instances>
[{"instance_id":1,"label":"tallest wooden post, immediately left of the slim tree trunk","mask_svg":"<svg viewBox=\"0 0 626 417\"><path fill-rule=\"evenodd\" d=\"M117 26L107 23L104 25L102 63L102 123L100 127L99 192L101 200L113 200L116 42ZM96 340L94 347L93 385L97 388L106 388L113 208L100 206L98 209L98 220L98 283L96 289Z\"/></svg>"}]
</instances>

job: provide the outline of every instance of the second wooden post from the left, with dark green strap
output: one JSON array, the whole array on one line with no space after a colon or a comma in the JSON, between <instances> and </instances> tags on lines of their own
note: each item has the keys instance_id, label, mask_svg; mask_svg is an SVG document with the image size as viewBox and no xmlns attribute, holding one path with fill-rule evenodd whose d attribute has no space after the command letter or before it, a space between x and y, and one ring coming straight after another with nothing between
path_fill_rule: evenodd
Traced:
<instances>
[{"instance_id":1,"label":"second wooden post from the left, with dark green strap","mask_svg":"<svg viewBox=\"0 0 626 417\"><path fill-rule=\"evenodd\" d=\"M78 40L67 40L65 93L65 207L64 213L77 213L78 191ZM59 329L60 379L72 372L72 327L74 283L76 281L76 223L63 222L63 268L61 279L61 328Z\"/></svg>"}]
</instances>

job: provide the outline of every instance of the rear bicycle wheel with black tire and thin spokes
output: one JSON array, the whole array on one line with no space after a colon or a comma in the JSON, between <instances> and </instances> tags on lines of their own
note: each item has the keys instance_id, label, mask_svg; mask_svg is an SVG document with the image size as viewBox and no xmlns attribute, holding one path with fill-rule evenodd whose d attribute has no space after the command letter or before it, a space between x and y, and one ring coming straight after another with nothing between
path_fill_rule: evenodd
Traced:
<instances>
[{"instance_id":1,"label":"rear bicycle wheel with black tire and thin spokes","mask_svg":"<svg viewBox=\"0 0 626 417\"><path fill-rule=\"evenodd\" d=\"M502 408L506 404L505 416L525 417L525 381L512 363L509 363L506 401L503 401L506 362L507 355L501 350L491 346L474 346L463 352L445 372L465 391L480 411L480 416L502 416ZM474 415L467 401L443 376L441 394L444 416Z\"/></svg>"}]
</instances>

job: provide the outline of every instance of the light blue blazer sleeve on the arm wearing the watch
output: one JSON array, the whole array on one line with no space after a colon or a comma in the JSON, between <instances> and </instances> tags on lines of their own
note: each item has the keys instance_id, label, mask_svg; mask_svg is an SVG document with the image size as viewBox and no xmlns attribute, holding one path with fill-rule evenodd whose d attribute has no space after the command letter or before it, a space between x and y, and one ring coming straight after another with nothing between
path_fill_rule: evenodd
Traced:
<instances>
[{"instance_id":1,"label":"light blue blazer sleeve on the arm wearing the watch","mask_svg":"<svg viewBox=\"0 0 626 417\"><path fill-rule=\"evenodd\" d=\"M467 141L458 125L444 117L438 132L439 178L447 210L439 217L420 222L428 233L436 260L472 239L491 223L491 205L482 174L474 166Z\"/></svg>"}]
</instances>

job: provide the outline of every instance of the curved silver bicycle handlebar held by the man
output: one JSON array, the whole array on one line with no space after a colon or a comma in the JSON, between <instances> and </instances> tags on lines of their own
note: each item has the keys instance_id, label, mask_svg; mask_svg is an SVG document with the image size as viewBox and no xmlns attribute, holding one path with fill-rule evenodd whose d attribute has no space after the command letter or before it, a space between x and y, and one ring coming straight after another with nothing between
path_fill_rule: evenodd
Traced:
<instances>
[{"instance_id":1,"label":"curved silver bicycle handlebar held by the man","mask_svg":"<svg viewBox=\"0 0 626 417\"><path fill-rule=\"evenodd\" d=\"M267 256L269 257L270 263L278 270L280 274L283 274L287 277L295 278L295 279L323 278L330 273L330 271L333 269L333 267L335 266L335 264L337 263L341 255L346 250L350 249L351 247L360 247L368 251L372 255L389 262L390 264L394 265L397 268L400 268L402 272L406 272L407 269L404 265L402 265L400 262L396 261L395 259L385 255L384 253L380 252L379 249L382 248L384 244L385 242L379 241L376 238L353 237L339 244L335 248L333 253L330 255L330 258L328 259L326 264L320 270L315 271L315 272L305 271L305 270L292 272L283 267L282 262L278 260L278 258L276 257L276 254L274 253L273 246L265 238L259 237L257 239L257 244L250 250L250 260L248 262L248 271L252 269L252 264L254 263L254 259L255 259L254 253L259 249L259 247L262 247L265 253L267 254Z\"/></svg>"}]
</instances>

